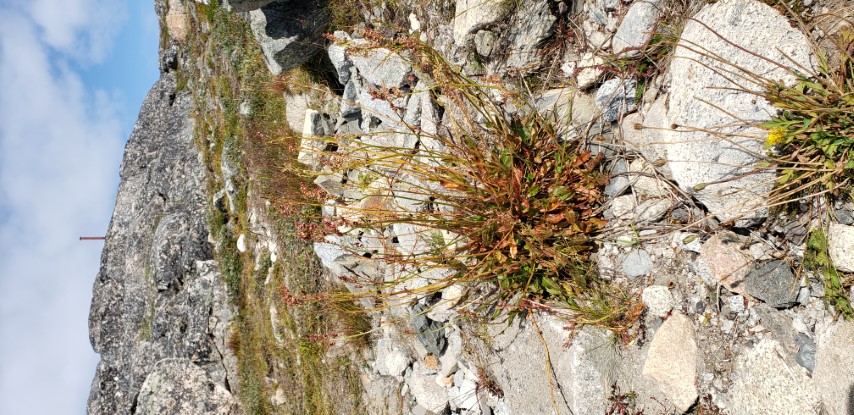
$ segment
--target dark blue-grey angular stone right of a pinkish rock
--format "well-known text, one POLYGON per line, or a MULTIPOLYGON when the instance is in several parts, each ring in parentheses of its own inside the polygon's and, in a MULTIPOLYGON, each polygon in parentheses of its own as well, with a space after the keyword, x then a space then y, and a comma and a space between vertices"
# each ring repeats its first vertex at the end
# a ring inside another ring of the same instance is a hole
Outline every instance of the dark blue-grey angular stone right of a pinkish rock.
POLYGON ((786 261, 768 261, 748 271, 744 277, 747 293, 771 307, 790 307, 797 302, 800 285, 786 261))

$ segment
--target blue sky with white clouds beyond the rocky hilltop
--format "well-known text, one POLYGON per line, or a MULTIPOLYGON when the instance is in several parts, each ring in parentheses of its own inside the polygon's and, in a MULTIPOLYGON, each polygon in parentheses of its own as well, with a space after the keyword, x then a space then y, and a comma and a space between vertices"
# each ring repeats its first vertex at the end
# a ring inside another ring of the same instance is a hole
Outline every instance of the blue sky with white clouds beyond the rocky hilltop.
POLYGON ((151 0, 0 0, 0 414, 84 414, 92 283, 158 76, 151 0))

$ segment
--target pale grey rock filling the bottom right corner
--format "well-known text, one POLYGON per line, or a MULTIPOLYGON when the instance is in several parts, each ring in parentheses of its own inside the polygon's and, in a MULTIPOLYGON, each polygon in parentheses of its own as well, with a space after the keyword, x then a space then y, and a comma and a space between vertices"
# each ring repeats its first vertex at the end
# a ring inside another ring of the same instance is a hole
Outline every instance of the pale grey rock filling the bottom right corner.
POLYGON ((827 415, 854 413, 854 323, 839 321, 817 333, 813 380, 827 415))

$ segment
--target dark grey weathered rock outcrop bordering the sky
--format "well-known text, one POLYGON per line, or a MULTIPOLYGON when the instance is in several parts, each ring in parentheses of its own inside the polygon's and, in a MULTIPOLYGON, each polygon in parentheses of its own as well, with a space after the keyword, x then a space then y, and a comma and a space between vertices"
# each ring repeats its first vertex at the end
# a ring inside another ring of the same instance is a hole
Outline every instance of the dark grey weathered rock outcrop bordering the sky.
MULTIPOLYGON (((101 354, 89 414, 141 413, 140 389, 163 359, 183 359, 198 369, 185 370, 188 376, 204 374, 229 398, 229 381, 235 383, 223 340, 230 310, 208 242, 192 99, 175 85, 169 73, 154 85, 125 148, 89 315, 92 347, 101 354)), ((203 392, 173 398, 190 402, 203 392)))

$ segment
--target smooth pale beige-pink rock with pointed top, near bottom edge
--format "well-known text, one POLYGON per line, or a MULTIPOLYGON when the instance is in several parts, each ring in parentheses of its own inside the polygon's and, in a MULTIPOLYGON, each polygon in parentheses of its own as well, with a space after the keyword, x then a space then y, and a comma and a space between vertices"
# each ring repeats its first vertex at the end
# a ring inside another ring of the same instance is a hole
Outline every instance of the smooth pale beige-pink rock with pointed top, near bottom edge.
POLYGON ((697 341, 694 323, 674 313, 655 332, 643 365, 643 375, 685 412, 697 400, 697 341))

